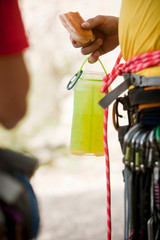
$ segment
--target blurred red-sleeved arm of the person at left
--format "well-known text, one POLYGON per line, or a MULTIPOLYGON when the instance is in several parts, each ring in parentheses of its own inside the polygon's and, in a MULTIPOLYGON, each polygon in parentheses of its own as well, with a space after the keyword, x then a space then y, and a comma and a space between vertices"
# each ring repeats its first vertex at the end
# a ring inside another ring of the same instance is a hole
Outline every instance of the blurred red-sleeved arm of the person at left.
POLYGON ((29 76, 23 52, 28 45, 17 0, 0 0, 0 123, 7 129, 26 113, 29 76))

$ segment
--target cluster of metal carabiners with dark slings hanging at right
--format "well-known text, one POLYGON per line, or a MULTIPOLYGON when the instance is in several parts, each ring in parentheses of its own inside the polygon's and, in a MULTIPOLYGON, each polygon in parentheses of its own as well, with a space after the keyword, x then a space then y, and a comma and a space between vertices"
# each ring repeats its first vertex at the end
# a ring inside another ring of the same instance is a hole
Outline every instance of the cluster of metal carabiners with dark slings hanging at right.
POLYGON ((135 124, 124 137, 124 239, 160 239, 160 125, 135 124))

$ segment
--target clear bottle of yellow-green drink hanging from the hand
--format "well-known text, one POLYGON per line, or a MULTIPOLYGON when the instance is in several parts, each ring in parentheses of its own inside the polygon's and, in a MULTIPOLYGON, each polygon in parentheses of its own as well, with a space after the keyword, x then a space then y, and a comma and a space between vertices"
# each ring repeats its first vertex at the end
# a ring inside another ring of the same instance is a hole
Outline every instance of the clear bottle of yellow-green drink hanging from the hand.
POLYGON ((106 72, 85 72, 81 67, 77 75, 70 151, 76 155, 103 156, 104 110, 98 102, 104 96, 100 89, 106 72))

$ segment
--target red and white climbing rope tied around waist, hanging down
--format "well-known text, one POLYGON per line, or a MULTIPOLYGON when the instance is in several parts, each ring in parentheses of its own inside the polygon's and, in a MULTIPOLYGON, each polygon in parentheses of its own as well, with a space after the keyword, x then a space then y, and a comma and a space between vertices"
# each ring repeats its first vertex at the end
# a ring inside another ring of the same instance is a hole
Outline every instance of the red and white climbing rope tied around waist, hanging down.
MULTIPOLYGON (((110 74, 107 74, 103 79, 103 87, 101 92, 108 93, 108 87, 114 81, 118 75, 122 73, 136 73, 142 69, 151 66, 160 66, 160 50, 141 54, 133 57, 125 63, 120 63, 121 53, 119 54, 114 68, 110 74)), ((105 151, 106 162, 106 185, 107 185, 107 240, 111 240, 111 191, 110 191, 110 163, 109 163, 109 151, 107 141, 107 123, 108 123, 108 108, 104 111, 104 124, 103 124, 103 141, 105 151)))

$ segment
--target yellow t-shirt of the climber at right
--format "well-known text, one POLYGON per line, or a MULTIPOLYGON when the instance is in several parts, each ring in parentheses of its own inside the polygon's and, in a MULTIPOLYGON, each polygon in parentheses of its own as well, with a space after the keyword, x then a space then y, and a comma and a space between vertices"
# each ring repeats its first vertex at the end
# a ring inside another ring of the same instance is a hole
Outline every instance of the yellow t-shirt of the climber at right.
MULTIPOLYGON (((122 0, 119 42, 124 60, 160 50, 160 0, 122 0)), ((138 74, 160 76, 160 66, 138 74)))

